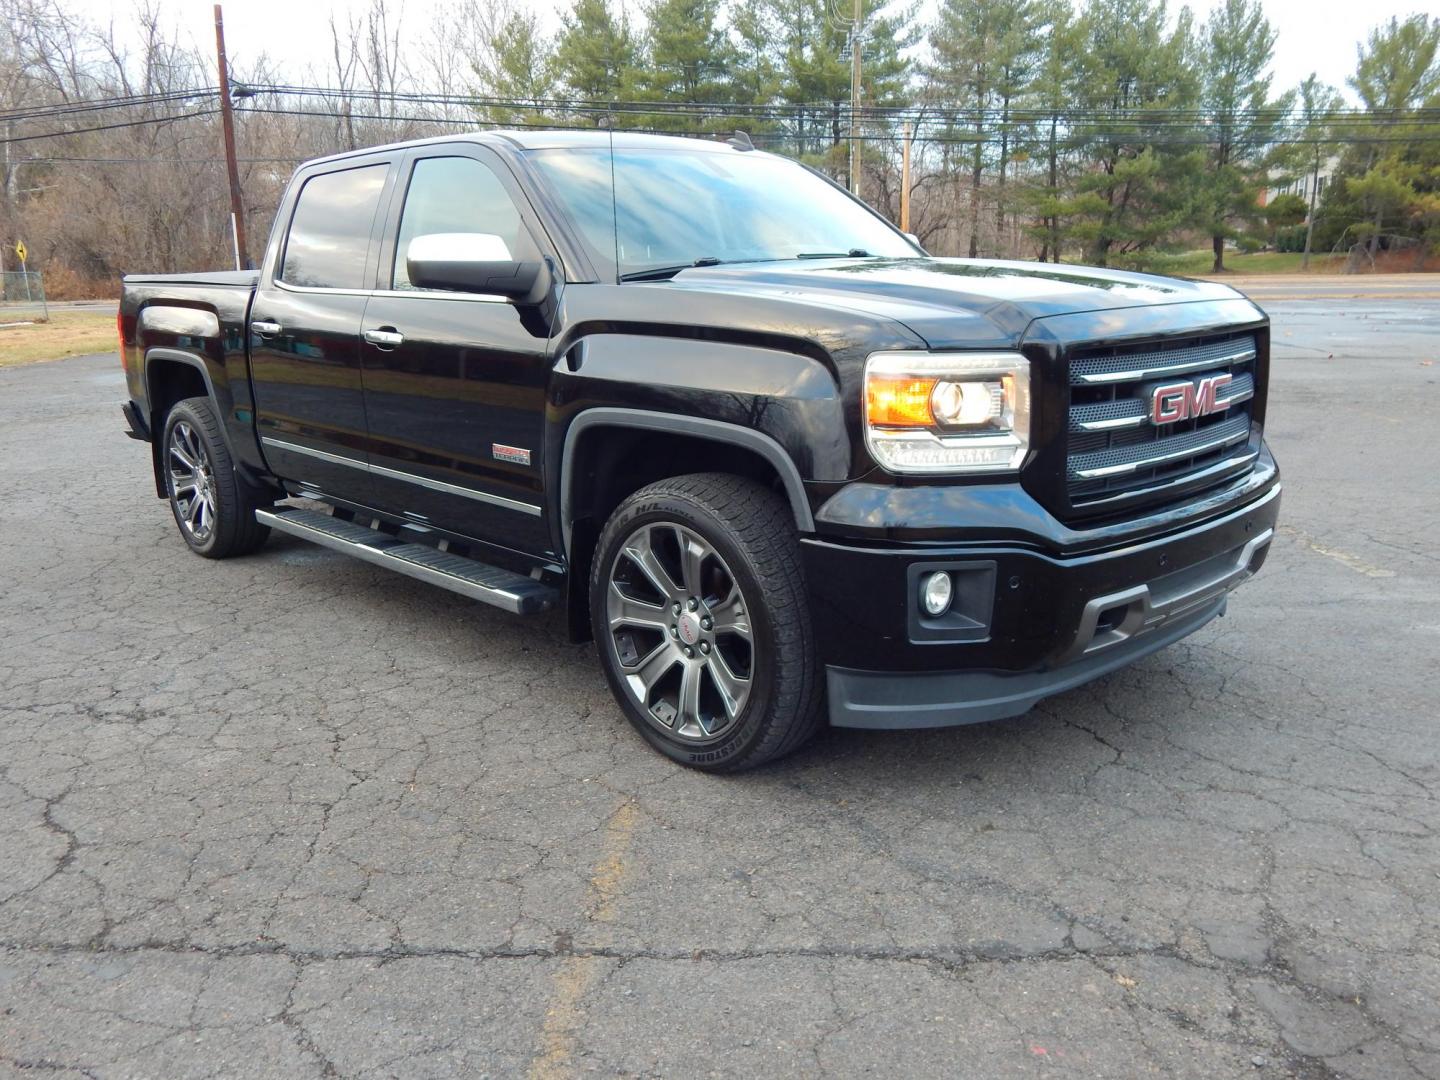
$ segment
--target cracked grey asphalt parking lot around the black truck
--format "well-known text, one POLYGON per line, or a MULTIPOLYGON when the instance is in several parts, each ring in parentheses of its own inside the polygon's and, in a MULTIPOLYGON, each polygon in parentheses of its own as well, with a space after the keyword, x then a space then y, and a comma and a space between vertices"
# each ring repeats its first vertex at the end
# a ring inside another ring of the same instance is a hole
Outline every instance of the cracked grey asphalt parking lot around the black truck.
POLYGON ((717 779, 588 647, 190 556, 0 372, 0 1076, 1440 1077, 1440 301, 1276 301, 1283 527, 1030 716, 717 779))

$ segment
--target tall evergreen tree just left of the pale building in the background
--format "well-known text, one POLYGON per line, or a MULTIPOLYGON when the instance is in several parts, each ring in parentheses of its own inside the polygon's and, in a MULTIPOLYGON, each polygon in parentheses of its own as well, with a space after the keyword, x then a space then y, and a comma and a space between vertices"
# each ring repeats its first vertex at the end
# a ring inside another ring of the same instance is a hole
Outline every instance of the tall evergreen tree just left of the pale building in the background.
POLYGON ((1270 99, 1266 69, 1274 30, 1260 0, 1224 0, 1201 32, 1201 105, 1208 124, 1208 161, 1201 180, 1201 223, 1210 233, 1214 265, 1225 269, 1225 240, 1237 225, 1259 217, 1269 183, 1270 150, 1293 94, 1270 99))

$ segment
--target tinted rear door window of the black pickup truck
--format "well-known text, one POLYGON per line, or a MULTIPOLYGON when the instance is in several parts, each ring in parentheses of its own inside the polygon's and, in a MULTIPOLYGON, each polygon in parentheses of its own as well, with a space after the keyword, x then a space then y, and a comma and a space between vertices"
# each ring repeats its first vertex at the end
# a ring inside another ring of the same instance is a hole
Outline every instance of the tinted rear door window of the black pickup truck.
POLYGON ((312 176, 300 189, 279 279, 288 285, 363 289, 370 229, 390 166, 312 176))

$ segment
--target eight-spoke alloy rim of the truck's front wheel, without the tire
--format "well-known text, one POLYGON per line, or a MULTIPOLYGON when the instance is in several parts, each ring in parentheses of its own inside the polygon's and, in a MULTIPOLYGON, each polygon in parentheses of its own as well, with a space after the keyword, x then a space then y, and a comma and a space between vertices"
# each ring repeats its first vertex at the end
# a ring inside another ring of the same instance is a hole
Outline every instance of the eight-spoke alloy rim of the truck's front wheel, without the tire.
POLYGON ((749 605, 714 546, 672 521, 638 527, 609 567, 609 648, 631 697, 667 734, 713 742, 755 677, 749 605))

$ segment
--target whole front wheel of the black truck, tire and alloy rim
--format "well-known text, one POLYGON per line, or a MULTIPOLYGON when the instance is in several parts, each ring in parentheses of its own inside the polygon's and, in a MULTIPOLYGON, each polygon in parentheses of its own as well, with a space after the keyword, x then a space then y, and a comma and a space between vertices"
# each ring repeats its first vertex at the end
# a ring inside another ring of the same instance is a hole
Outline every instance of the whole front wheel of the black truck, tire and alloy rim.
POLYGON ((740 772, 819 727, 795 520, 752 480, 674 477, 621 503, 596 544, 590 622, 615 700, 671 760, 740 772))

